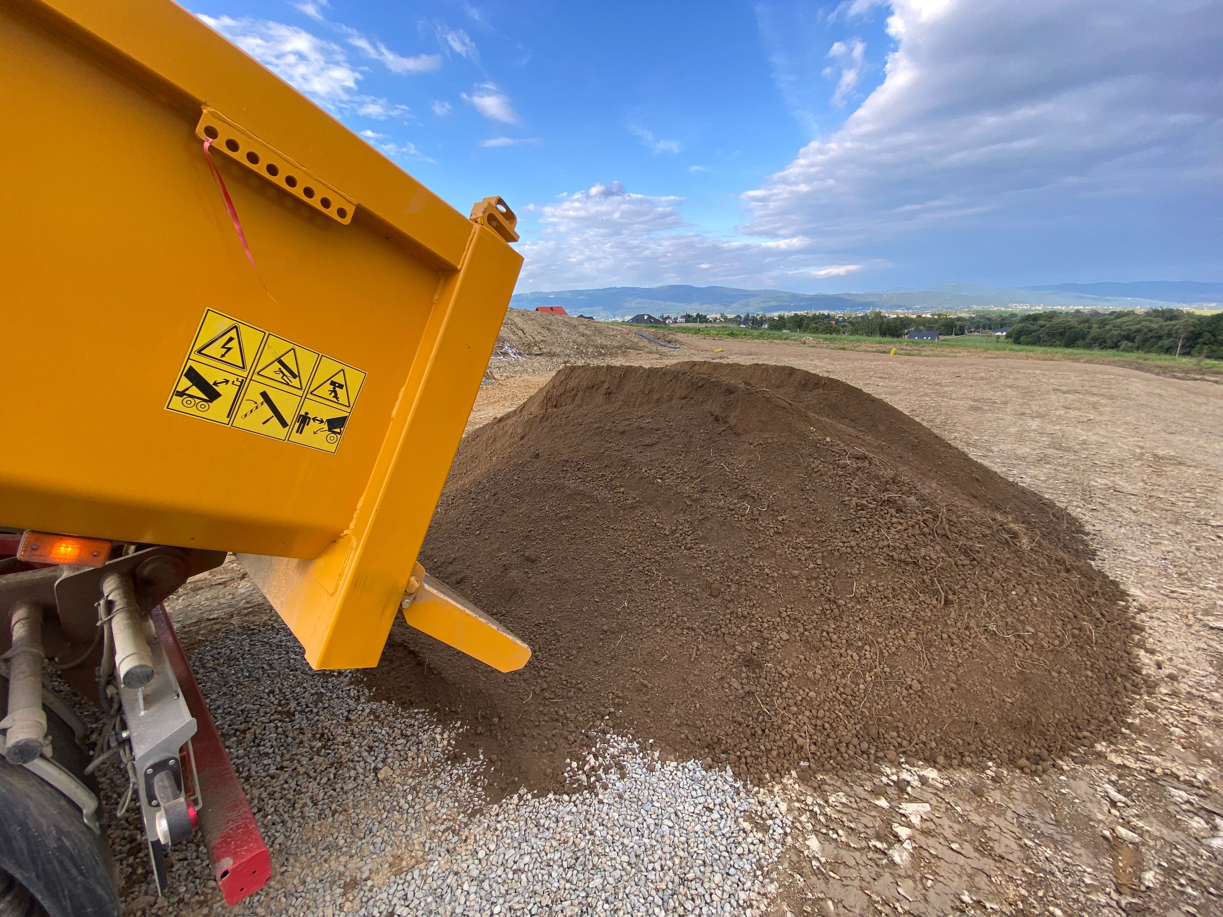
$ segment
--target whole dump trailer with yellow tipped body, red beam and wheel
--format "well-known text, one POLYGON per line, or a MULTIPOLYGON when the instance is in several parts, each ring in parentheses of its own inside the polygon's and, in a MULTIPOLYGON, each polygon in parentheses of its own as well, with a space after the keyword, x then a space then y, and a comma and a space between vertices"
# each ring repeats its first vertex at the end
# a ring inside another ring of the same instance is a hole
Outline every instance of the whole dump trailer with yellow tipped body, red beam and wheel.
POLYGON ((0 913, 117 915, 115 806, 159 890, 199 831, 235 904, 272 861, 163 603, 234 554, 314 668, 377 665, 397 614, 526 664, 417 562, 515 216, 168 0, 0 1, 0 913))

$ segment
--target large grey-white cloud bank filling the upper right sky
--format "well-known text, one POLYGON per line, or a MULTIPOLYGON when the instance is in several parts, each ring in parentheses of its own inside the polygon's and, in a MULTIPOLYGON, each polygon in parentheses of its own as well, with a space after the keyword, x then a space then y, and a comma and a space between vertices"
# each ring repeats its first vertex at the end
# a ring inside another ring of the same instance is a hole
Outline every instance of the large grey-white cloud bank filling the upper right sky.
POLYGON ((747 231, 879 257, 933 229, 1074 240, 1218 197, 1219 0, 890 6, 884 82, 744 196, 747 231))

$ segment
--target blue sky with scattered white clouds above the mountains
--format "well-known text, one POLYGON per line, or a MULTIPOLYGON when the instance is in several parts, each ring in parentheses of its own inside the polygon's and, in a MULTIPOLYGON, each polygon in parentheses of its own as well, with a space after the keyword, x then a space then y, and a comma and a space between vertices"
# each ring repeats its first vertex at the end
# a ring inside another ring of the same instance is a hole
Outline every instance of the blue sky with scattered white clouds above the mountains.
POLYGON ((520 291, 1223 280, 1223 0, 208 0, 520 291))

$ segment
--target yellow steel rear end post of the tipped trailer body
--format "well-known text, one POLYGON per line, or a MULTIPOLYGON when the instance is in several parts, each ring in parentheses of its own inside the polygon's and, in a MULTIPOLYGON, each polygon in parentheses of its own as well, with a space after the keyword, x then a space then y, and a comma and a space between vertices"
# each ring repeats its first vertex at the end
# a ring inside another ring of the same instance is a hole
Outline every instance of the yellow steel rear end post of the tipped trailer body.
POLYGON ((378 664, 522 259, 473 225, 446 279, 351 529, 313 562, 240 555, 318 669, 378 664))

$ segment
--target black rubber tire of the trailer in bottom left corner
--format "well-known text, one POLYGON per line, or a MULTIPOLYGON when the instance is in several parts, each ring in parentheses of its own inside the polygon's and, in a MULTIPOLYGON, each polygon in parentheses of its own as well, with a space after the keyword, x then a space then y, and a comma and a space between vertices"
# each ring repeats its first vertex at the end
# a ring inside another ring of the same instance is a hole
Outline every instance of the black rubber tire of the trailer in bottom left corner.
MULTIPOLYGON (((0 709, 7 699, 9 680, 0 676, 0 709)), ((71 727, 50 710, 46 726, 56 759, 83 780, 86 754, 71 727)), ((93 833, 64 794, 0 756, 0 885, 5 877, 42 906, 29 911, 31 917, 44 912, 48 917, 119 917, 105 836, 93 833)))

